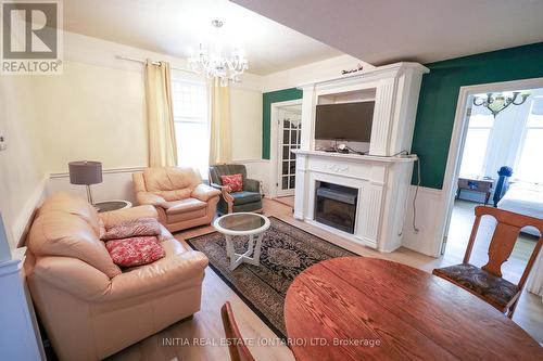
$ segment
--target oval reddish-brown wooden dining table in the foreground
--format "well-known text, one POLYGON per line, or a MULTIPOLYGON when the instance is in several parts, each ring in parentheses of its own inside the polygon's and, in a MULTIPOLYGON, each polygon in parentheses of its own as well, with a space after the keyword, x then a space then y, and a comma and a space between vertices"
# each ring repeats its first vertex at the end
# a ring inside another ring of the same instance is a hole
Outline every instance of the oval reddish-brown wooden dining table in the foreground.
POLYGON ((543 348, 496 309, 413 267, 369 257, 321 261, 287 293, 299 361, 543 360, 543 348))

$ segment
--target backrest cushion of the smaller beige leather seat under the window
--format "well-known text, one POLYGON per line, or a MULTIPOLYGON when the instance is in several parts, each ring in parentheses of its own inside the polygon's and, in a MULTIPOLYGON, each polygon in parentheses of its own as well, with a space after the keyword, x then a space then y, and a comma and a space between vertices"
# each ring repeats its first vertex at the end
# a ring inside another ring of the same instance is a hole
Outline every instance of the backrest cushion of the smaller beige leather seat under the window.
MULTIPOLYGON (((147 191, 152 193, 184 189, 189 189, 192 192, 198 184, 202 183, 200 173, 197 170, 176 167, 146 168, 143 170, 143 180, 147 191)), ((163 196, 163 194, 167 193, 155 194, 163 196)), ((166 198, 166 201, 168 199, 166 198)))

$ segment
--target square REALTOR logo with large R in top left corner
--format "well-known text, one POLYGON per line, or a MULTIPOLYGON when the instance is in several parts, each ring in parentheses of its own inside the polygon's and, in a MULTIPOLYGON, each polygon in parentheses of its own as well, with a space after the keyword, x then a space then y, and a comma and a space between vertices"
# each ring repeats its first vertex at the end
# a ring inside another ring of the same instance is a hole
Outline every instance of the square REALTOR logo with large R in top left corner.
POLYGON ((61 74, 61 2, 2 1, 1 4, 1 74, 61 74))

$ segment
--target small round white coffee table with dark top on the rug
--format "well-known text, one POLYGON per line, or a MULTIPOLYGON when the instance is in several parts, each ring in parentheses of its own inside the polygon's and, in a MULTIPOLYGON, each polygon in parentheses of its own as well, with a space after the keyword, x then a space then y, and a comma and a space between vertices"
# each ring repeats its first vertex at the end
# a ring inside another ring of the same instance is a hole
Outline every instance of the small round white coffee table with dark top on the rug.
POLYGON ((230 259, 230 271, 241 263, 261 265, 261 248, 264 231, 269 228, 269 219, 265 216, 239 212, 219 217, 213 227, 226 237, 226 254, 230 259), (248 235, 249 246, 245 253, 237 254, 233 249, 233 235, 248 235), (251 257, 252 255, 252 257, 251 257))

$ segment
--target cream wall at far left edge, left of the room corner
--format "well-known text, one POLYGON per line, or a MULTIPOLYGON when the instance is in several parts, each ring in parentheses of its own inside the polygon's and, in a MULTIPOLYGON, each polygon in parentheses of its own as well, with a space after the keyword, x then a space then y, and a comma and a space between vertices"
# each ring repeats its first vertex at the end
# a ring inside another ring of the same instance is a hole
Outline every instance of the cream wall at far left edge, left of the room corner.
POLYGON ((35 76, 0 77, 0 211, 11 247, 18 242, 27 217, 45 188, 43 147, 37 125, 35 76))

